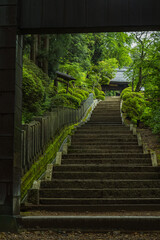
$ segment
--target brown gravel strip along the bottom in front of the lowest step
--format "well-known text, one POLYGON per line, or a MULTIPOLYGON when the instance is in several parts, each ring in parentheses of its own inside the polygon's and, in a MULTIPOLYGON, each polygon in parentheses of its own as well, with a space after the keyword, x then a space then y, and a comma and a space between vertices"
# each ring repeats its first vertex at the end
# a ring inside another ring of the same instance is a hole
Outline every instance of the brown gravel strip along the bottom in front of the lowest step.
POLYGON ((52 232, 35 231, 21 232, 19 234, 0 233, 0 240, 159 240, 160 233, 121 233, 119 231, 108 233, 81 233, 81 232, 52 232))

